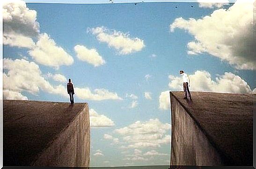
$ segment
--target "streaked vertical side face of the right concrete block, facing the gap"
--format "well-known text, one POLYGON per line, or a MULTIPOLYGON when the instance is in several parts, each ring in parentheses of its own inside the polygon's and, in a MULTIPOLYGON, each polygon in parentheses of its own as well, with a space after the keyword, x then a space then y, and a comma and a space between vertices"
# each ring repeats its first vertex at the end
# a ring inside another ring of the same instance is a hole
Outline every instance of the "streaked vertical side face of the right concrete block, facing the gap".
POLYGON ((205 134, 172 95, 171 165, 221 166, 224 162, 205 134))

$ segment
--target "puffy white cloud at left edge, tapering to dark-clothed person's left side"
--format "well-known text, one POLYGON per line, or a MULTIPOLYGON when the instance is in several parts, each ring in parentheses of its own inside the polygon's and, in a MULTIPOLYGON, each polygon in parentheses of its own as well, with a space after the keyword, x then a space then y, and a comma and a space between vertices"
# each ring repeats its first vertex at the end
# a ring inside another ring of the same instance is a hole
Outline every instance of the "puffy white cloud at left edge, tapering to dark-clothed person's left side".
POLYGON ((4 98, 15 99, 23 98, 21 92, 29 92, 36 95, 40 90, 51 94, 60 94, 66 96, 66 89, 61 86, 52 86, 46 81, 34 62, 24 59, 3 59, 3 69, 7 73, 3 73, 3 89, 4 98), (12 98, 10 98, 12 96, 12 98))

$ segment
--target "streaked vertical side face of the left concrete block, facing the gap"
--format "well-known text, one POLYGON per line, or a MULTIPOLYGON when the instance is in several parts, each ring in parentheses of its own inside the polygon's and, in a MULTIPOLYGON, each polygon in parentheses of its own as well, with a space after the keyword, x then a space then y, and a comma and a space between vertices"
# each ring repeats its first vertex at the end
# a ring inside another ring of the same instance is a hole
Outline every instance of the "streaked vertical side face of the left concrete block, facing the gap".
POLYGON ((88 167, 90 122, 87 106, 75 117, 32 166, 88 167))

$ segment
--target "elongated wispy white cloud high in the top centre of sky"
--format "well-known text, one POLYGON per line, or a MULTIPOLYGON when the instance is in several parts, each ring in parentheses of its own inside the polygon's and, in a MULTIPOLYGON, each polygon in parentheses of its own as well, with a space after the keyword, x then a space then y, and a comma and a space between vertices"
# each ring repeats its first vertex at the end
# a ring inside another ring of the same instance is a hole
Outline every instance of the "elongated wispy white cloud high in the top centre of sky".
POLYGON ((128 33, 110 30, 105 27, 88 28, 88 32, 96 35, 98 41, 108 43, 109 47, 115 48, 120 55, 128 55, 138 52, 145 47, 144 41, 131 38, 128 33))

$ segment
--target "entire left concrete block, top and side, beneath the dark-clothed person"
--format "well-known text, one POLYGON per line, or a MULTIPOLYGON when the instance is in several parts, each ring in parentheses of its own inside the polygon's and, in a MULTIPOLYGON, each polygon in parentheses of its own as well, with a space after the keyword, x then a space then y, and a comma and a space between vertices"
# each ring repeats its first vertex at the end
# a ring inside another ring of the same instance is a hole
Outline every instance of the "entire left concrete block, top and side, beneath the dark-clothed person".
POLYGON ((89 166, 87 103, 3 101, 4 166, 89 166))

